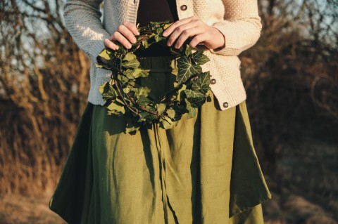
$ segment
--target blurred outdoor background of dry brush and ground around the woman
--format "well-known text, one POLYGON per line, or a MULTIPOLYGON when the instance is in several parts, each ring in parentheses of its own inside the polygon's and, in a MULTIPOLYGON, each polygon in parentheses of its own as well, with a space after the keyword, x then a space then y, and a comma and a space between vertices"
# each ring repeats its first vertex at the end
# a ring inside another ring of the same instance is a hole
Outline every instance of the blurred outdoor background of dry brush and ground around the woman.
MULTIPOLYGON (((63 223, 49 197, 89 90, 63 0, 0 0, 0 223, 63 223)), ((265 223, 338 221, 338 2, 261 0, 240 55, 265 223)))

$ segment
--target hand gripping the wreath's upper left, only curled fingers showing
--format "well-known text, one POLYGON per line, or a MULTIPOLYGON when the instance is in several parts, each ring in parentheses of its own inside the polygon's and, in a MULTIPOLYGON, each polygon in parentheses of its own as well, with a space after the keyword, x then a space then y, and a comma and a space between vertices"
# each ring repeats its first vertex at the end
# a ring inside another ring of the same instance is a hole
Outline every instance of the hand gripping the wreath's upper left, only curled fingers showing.
POLYGON ((112 41, 119 41, 125 48, 129 49, 132 44, 136 43, 135 35, 139 35, 137 27, 131 22, 123 22, 118 26, 118 29, 111 35, 111 38, 104 39, 104 46, 113 50, 118 49, 118 45, 112 41))

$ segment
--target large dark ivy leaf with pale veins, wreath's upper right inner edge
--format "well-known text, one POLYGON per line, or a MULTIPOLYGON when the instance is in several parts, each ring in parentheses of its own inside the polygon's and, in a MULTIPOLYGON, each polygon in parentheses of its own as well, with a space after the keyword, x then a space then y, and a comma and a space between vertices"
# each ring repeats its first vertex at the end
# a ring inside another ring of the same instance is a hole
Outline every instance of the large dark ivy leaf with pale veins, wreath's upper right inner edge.
POLYGON ((186 82, 194 74, 202 72, 202 68, 199 65, 192 65, 192 61, 187 56, 182 56, 177 60, 178 74, 177 84, 180 85, 186 82))

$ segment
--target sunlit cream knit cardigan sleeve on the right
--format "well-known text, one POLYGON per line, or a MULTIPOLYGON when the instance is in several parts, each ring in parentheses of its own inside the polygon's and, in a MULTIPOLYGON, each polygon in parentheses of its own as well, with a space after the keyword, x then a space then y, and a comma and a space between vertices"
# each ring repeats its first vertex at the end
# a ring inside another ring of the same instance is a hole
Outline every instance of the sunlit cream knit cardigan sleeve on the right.
POLYGON ((261 17, 257 0, 223 0, 224 20, 215 22, 225 37, 225 46, 211 49, 211 53, 234 56, 250 48, 261 36, 261 17))

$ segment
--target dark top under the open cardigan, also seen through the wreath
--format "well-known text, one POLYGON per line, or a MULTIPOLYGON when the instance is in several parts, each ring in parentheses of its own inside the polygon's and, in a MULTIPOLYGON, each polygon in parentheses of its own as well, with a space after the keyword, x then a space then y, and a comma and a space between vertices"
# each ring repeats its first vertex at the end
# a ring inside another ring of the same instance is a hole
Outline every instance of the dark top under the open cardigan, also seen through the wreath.
MULTIPOLYGON (((159 22, 169 20, 175 22, 178 20, 175 0, 140 0, 137 11, 137 23, 139 27, 148 25, 150 21, 159 22)), ((145 50, 137 50, 135 55, 139 57, 165 56, 171 55, 168 48, 161 44, 152 44, 145 50)))

